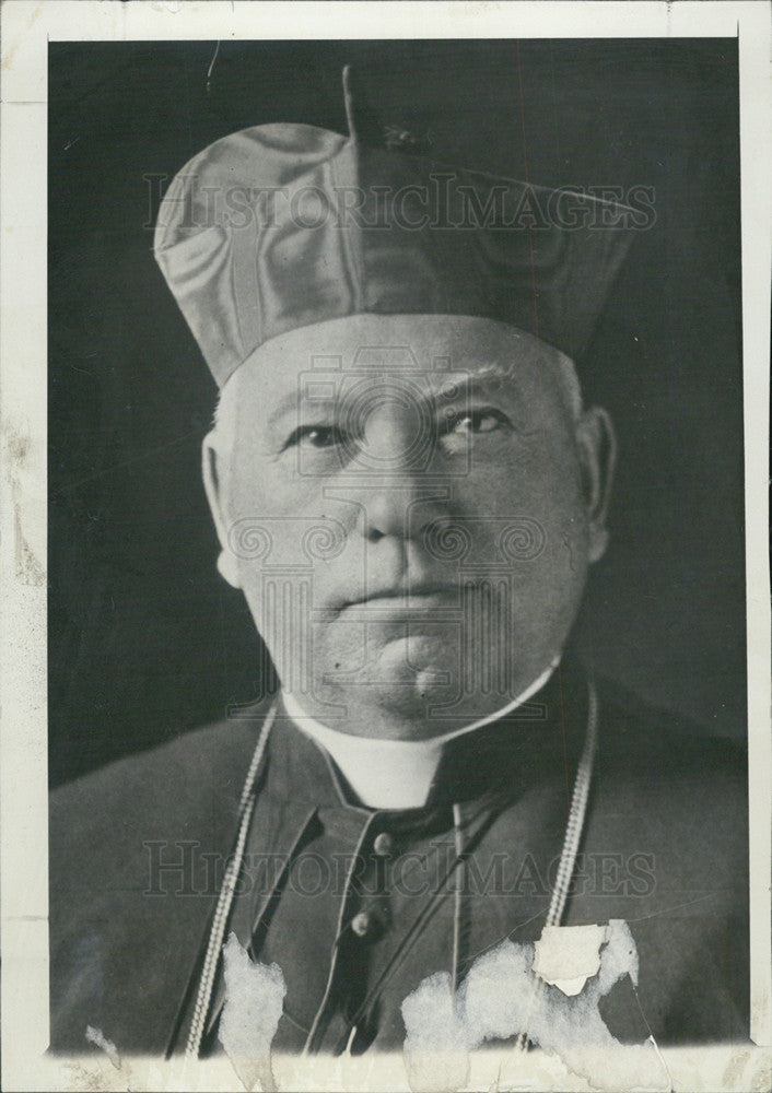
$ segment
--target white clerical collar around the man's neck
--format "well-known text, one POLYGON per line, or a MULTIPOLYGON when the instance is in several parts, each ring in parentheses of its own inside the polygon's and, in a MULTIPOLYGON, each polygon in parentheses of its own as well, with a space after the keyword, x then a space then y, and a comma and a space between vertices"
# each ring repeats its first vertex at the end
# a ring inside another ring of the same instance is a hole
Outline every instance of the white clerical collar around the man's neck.
POLYGON ((371 809, 416 809, 426 803, 443 749, 451 740, 511 714, 540 691, 554 671, 555 657, 514 702, 430 740, 379 740, 330 729, 309 717, 292 694, 282 693, 284 709, 297 728, 331 756, 359 800, 371 809))

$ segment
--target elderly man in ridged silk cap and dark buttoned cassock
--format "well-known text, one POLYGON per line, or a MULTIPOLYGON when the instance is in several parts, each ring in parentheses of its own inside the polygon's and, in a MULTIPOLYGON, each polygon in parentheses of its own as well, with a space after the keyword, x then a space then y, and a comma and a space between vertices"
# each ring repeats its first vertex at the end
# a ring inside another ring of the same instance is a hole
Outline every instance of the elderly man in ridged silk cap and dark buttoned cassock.
POLYGON ((278 1050, 400 1047, 426 977, 613 919, 615 1035, 746 1036, 741 756, 566 651, 615 455, 573 360, 630 210, 351 130, 220 140, 159 214, 281 691, 58 795, 52 1045, 215 1050, 233 935, 278 1050))

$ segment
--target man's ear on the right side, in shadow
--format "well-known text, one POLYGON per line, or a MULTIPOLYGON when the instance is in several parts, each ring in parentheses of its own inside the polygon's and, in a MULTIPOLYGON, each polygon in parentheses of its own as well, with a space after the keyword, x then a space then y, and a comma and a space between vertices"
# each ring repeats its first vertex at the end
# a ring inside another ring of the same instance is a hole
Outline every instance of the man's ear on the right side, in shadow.
POLYGON ((606 517, 617 465, 617 436, 608 413, 600 407, 582 412, 576 424, 576 447, 589 528, 588 560, 603 557, 608 546, 606 517))

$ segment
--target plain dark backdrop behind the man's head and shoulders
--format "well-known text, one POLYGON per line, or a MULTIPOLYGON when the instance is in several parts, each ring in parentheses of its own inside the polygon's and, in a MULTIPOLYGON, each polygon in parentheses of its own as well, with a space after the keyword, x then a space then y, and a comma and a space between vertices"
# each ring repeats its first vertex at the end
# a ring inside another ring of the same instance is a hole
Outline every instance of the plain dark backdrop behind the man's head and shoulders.
POLYGON ((346 62, 371 120, 437 158, 655 188, 656 223, 580 362, 620 461, 576 640, 650 701, 744 734, 735 40, 225 42, 208 84, 214 48, 50 46, 51 781, 260 693, 200 484, 215 387, 155 267, 150 193, 241 128, 344 132, 346 62))

